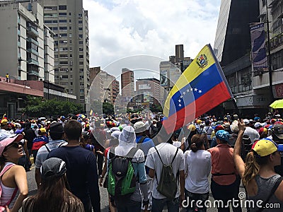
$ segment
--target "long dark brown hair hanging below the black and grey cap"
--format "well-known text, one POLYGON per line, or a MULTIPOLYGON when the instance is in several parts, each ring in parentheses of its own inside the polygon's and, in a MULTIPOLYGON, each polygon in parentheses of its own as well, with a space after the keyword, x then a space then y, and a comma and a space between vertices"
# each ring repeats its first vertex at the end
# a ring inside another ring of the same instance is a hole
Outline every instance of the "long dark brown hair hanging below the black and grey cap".
POLYGON ((27 208, 33 208, 33 212, 62 211, 64 207, 67 207, 67 211, 76 211, 74 201, 72 202, 69 197, 77 198, 68 189, 69 184, 66 175, 42 179, 37 194, 28 199, 26 206, 27 208), (33 206, 30 207, 29 204, 33 204, 33 206))

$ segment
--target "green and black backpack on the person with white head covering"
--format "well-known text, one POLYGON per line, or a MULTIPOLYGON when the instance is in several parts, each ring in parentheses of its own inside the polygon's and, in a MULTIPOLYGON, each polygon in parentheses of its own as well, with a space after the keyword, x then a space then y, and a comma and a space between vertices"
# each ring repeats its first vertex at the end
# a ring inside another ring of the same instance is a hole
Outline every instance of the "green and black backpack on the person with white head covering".
POLYGON ((110 148, 108 170, 108 193, 113 199, 127 199, 136 189, 132 158, 138 148, 132 148, 126 156, 115 155, 115 147, 110 148))

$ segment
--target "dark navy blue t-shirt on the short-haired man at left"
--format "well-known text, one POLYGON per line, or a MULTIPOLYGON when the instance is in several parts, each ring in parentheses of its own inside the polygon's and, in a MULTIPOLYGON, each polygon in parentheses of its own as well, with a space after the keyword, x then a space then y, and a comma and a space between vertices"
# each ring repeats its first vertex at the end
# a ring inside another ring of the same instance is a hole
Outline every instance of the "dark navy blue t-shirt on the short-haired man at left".
POLYGON ((88 211, 86 206, 90 204, 93 206, 93 211, 100 211, 95 155, 81 146, 61 146, 51 151, 47 158, 64 160, 71 192, 81 199, 85 211, 88 211))

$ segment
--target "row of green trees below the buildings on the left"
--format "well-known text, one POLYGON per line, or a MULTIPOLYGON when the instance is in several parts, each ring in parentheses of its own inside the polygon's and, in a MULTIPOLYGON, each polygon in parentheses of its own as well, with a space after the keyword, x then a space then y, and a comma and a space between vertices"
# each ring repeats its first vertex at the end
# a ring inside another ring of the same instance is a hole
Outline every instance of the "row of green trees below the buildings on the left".
POLYGON ((43 100, 28 96, 25 101, 25 109, 22 112, 28 114, 29 117, 53 116, 57 117, 73 113, 78 114, 83 112, 83 105, 73 102, 58 102, 57 100, 43 100))

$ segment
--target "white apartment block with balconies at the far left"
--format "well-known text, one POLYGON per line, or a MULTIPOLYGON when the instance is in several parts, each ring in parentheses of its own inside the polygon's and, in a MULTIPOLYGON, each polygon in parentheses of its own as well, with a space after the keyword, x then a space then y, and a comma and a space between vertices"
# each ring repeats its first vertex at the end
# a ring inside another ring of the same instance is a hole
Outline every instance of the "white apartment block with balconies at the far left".
MULTIPOLYGON (((54 46, 53 33, 43 22, 42 6, 36 1, 0 1, 0 18, 1 76, 9 73, 19 80, 46 79, 45 70, 54 69, 54 46)), ((52 72, 49 81, 54 83, 52 72)))

